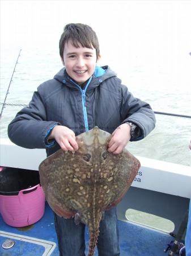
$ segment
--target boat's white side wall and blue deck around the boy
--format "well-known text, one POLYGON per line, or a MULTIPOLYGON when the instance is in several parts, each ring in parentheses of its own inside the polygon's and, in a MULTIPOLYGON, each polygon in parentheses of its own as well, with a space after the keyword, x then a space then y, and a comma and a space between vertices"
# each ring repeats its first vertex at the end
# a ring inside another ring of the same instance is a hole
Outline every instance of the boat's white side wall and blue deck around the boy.
MULTIPOLYGON (((0 151, 0 166, 26 170, 38 170, 39 163, 46 157, 44 150, 28 150, 6 139, 1 139, 0 151)), ((117 205, 120 256, 165 256, 168 253, 164 253, 164 249, 174 240, 169 232, 177 234, 189 207, 191 167, 141 157, 138 159, 142 163, 139 174, 128 193, 117 205), (136 214, 139 216, 138 221, 136 214), (154 225, 148 223, 152 217, 155 218, 155 229, 154 225), (165 224, 162 229, 159 227, 163 231, 156 229, 156 226, 159 226, 156 225, 159 223, 158 217, 163 218, 164 223, 170 224, 170 227, 168 228, 165 224), (144 222, 152 228, 141 225, 144 222)), ((87 229, 85 235, 87 255, 87 229)), ((23 229, 8 226, 0 214, 0 255, 59 255, 53 212, 48 204, 46 204, 43 218, 23 229), (6 238, 15 241, 11 249, 2 248, 6 238)), ((95 256, 97 255, 96 251, 95 256)))

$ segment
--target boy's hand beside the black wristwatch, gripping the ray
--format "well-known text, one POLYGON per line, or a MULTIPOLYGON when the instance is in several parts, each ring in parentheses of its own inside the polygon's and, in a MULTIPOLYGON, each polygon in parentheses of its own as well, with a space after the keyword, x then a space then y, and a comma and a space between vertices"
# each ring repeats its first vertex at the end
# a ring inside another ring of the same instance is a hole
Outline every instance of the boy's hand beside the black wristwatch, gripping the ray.
POLYGON ((123 123, 113 131, 108 151, 113 154, 120 154, 130 138, 130 126, 128 123, 123 123))

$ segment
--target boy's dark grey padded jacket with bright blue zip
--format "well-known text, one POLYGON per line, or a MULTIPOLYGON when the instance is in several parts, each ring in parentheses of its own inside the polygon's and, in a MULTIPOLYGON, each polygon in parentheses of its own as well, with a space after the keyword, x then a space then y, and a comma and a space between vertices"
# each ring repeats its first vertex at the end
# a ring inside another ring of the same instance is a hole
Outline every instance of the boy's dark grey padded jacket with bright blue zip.
POLYGON ((112 133, 129 121, 141 131, 136 140, 145 138, 155 127, 150 105, 133 97, 108 66, 96 67, 83 89, 63 68, 37 88, 29 106, 10 123, 8 135, 21 147, 46 148, 50 155, 60 148, 54 141, 46 141, 55 125, 67 126, 78 135, 95 126, 112 133))

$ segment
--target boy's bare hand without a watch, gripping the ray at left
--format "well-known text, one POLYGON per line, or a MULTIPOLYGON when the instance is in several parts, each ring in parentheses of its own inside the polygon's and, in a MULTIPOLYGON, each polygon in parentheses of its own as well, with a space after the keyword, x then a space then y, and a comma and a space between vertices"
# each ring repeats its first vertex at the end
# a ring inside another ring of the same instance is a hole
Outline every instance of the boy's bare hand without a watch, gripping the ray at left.
POLYGON ((63 151, 76 151, 78 144, 75 141, 75 133, 66 126, 54 126, 48 139, 56 139, 63 151))

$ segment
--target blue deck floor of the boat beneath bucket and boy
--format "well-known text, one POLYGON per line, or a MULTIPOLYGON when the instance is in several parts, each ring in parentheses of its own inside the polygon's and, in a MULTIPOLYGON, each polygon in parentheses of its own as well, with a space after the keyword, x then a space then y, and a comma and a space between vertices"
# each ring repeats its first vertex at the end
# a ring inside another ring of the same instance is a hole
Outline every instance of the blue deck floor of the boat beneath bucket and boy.
MULTIPOLYGON (((118 221, 120 230, 121 256, 165 256, 164 249, 172 240, 168 234, 118 221)), ((86 255, 88 232, 86 229, 86 255)), ((58 256, 56 233, 54 232, 53 212, 46 205, 44 217, 28 230, 12 228, 3 222, 0 215, 0 255, 1 256, 58 256), (11 249, 3 249, 6 238, 15 241, 11 249), (45 252, 45 254, 44 254, 45 252), (52 253, 51 253, 52 252, 52 253)), ((97 256, 97 251, 95 256, 97 256)), ((72 256, 72 255, 71 255, 72 256)))

